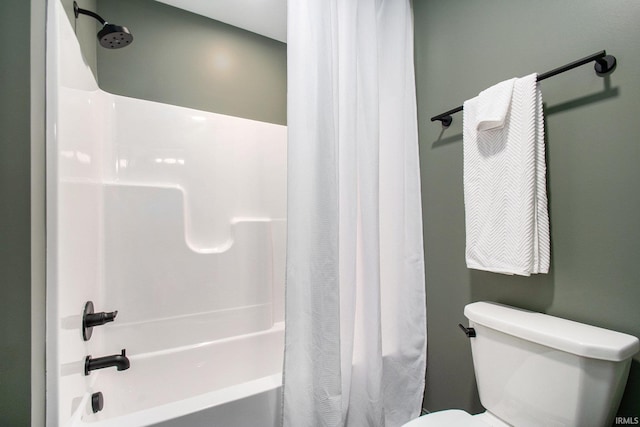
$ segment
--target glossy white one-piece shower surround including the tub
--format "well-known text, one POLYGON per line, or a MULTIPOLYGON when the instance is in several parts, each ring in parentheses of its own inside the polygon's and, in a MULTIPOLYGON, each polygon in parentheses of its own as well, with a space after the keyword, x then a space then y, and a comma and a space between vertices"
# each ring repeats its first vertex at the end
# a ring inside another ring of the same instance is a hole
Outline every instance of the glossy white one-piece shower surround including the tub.
POLYGON ((276 425, 286 128, 105 93, 47 15, 47 425, 276 425))

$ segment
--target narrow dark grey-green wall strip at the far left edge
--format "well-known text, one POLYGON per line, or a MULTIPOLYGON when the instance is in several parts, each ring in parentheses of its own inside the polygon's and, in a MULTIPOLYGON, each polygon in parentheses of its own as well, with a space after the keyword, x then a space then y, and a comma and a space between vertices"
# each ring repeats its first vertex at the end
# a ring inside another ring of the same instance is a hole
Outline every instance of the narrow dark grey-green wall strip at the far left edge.
POLYGON ((0 2, 0 425, 31 413, 30 3, 0 2))

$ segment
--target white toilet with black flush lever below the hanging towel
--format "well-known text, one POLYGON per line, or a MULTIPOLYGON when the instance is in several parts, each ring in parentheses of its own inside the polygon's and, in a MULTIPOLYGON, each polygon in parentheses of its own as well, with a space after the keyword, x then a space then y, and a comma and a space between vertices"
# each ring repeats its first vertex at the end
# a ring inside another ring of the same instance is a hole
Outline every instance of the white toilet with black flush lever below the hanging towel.
POLYGON ((502 304, 464 309, 480 402, 403 427, 602 427, 613 423, 638 338, 502 304), (474 336, 475 335, 475 336, 474 336))

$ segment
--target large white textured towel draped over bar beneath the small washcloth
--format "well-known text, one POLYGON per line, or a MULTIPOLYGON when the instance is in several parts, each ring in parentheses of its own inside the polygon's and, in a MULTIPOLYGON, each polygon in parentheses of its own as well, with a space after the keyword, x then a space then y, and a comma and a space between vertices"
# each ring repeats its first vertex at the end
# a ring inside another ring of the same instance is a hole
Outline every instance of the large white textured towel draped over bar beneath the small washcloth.
POLYGON ((501 128, 479 131, 478 115, 493 107, 479 105, 480 97, 464 103, 469 268, 524 276, 549 271, 544 122, 536 79, 531 74, 515 80, 501 128))

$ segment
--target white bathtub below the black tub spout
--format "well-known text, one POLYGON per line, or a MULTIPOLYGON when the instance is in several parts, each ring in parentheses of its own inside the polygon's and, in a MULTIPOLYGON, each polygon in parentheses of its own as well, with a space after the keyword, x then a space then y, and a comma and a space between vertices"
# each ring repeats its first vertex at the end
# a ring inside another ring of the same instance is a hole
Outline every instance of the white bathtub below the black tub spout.
POLYGON ((253 334, 131 355, 126 371, 91 373, 91 390, 76 402, 69 425, 276 427, 283 349, 280 322, 253 334), (94 414, 96 392, 102 392, 104 407, 94 414))

